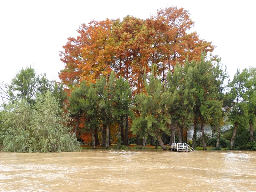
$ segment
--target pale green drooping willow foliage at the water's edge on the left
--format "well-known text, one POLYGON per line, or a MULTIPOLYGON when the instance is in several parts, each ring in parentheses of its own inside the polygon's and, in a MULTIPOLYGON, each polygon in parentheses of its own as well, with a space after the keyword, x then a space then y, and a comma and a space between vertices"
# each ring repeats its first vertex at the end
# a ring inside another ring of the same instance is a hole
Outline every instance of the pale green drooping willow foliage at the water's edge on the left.
POLYGON ((34 109, 21 100, 6 110, 1 132, 4 151, 65 152, 80 150, 74 133, 68 126, 69 114, 60 108, 51 92, 37 95, 34 109))

